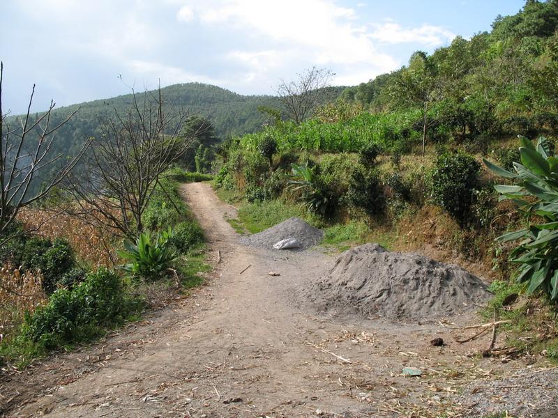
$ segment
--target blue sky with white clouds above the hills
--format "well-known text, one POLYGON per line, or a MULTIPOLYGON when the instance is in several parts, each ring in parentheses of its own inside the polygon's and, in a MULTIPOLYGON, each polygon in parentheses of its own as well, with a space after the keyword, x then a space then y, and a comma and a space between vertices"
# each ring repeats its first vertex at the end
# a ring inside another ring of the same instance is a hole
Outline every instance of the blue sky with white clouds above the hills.
POLYGON ((352 85, 490 30, 524 0, 2 0, 3 110, 185 82, 273 94, 316 65, 352 85), (121 75, 123 82, 118 76, 121 75))

